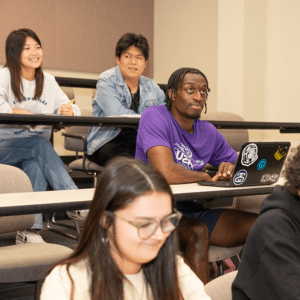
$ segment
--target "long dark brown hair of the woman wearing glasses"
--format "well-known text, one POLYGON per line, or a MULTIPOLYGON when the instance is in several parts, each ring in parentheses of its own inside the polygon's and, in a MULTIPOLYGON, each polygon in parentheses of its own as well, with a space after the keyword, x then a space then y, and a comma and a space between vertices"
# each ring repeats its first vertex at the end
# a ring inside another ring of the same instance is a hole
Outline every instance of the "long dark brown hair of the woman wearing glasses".
MULTIPOLYGON (((105 242, 108 239, 108 228, 113 226, 115 216, 105 212, 122 209, 133 202, 135 198, 154 191, 170 195, 172 208, 175 209, 175 199, 170 186, 166 179, 150 165, 140 160, 119 157, 113 159, 106 166, 98 180, 79 244, 75 252, 61 263, 67 266, 71 278, 70 299, 74 297, 75 287, 69 268, 82 259, 88 259, 90 263, 92 300, 124 299, 123 280, 126 278, 111 256, 109 243, 105 242), (105 226, 103 223, 99 225, 103 221, 104 215, 105 226)), ((114 237, 111 238, 117 246, 114 237)), ((176 232, 172 232, 161 247, 157 257, 142 266, 146 284, 152 292, 153 299, 183 299, 176 266, 177 242, 176 232)))

